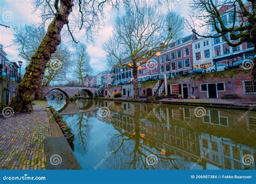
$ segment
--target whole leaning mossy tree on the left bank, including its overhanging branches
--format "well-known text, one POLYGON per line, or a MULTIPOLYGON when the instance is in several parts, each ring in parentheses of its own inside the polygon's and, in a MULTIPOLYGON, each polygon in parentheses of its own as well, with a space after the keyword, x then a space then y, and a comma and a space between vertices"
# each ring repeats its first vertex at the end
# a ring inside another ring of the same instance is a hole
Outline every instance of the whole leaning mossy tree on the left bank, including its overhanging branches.
MULTIPOLYGON (((56 52, 57 46, 61 42, 61 31, 66 25, 66 32, 70 34, 73 41, 75 30, 85 30, 86 38, 92 40, 94 33, 98 32, 102 20, 105 18, 105 6, 119 8, 121 2, 134 4, 137 0, 36 0, 35 7, 41 11, 44 25, 48 25, 48 30, 33 53, 29 65, 26 67, 22 82, 18 86, 17 94, 11 101, 11 107, 15 112, 31 112, 32 100, 36 91, 42 86, 46 62, 51 54, 56 52), (73 11, 74 10, 74 11, 73 11), (71 13, 73 11, 73 13, 71 13)), ((169 4, 166 0, 158 0, 161 3, 169 4)), ((171 3, 171 2, 170 2, 171 3)))

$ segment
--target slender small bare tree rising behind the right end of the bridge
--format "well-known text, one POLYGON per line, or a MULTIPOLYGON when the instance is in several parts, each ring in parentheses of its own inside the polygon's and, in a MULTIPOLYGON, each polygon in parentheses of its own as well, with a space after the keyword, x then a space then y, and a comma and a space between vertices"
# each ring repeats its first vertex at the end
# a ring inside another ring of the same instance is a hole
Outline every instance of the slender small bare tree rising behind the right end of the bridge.
POLYGON ((78 44, 75 60, 77 61, 75 73, 77 75, 79 85, 84 86, 84 79, 91 71, 91 66, 90 66, 91 58, 87 53, 86 45, 78 44))

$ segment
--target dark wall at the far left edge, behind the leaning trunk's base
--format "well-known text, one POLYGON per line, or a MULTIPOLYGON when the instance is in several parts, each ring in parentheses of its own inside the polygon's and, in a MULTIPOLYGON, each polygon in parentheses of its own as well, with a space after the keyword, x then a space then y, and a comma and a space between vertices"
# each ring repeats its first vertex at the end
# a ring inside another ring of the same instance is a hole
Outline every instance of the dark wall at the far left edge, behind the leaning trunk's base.
POLYGON ((0 109, 11 103, 11 98, 15 96, 17 88, 17 82, 0 75, 0 109))

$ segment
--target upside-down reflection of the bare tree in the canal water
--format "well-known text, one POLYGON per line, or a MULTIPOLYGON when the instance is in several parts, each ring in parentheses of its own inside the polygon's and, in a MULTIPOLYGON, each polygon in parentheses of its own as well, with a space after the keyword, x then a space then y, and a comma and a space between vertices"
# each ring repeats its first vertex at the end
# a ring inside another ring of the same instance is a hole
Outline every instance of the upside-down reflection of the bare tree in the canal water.
MULTIPOLYGON (((134 108, 138 108, 135 104, 134 108)), ((135 128, 130 133, 113 135, 110 140, 109 147, 113 150, 113 158, 111 165, 114 168, 123 169, 155 169, 159 165, 167 166, 167 168, 178 169, 174 163, 174 158, 170 155, 163 153, 163 150, 154 144, 151 140, 146 139, 140 131, 140 121, 138 116, 134 116, 135 128), (148 155, 153 154, 158 158, 158 165, 149 165, 146 162, 148 155), (121 165, 118 166, 117 163, 121 165)))

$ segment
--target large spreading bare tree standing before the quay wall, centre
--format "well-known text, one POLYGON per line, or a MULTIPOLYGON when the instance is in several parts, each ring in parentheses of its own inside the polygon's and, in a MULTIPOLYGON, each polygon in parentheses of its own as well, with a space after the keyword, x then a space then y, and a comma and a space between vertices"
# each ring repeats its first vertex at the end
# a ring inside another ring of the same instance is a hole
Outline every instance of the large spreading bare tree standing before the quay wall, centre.
POLYGON ((116 19, 112 37, 103 44, 107 61, 113 67, 133 70, 134 98, 139 97, 138 66, 146 62, 152 65, 151 58, 165 51, 183 29, 184 19, 178 13, 161 11, 146 3, 125 5, 124 15, 116 19), (122 58, 130 61, 123 62, 122 58))

